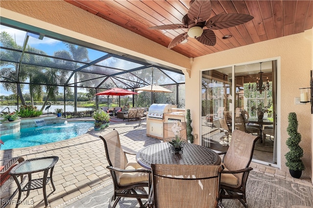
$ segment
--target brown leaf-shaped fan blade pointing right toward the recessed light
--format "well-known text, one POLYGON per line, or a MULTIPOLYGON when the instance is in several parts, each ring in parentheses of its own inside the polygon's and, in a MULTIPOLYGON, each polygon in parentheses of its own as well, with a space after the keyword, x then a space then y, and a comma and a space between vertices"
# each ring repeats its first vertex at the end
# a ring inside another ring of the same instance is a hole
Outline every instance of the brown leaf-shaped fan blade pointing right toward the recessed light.
POLYGON ((211 30, 219 30, 244 24, 253 19, 245 14, 220 14, 207 20, 205 26, 211 30))

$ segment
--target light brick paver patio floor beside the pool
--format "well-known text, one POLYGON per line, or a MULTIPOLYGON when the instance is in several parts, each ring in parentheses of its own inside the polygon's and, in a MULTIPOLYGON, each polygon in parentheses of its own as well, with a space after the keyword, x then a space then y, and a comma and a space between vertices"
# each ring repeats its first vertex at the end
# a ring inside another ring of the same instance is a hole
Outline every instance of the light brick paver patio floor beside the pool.
MULTIPOLYGON (((88 119, 84 118, 84 120, 88 119)), ((100 132, 95 132, 91 128, 86 134, 72 139, 30 148, 3 150, 0 151, 0 165, 6 163, 12 157, 18 156, 23 157, 25 160, 44 156, 58 156, 59 161, 56 163, 53 171, 56 191, 48 196, 48 208, 63 207, 63 205, 65 206, 67 203, 77 200, 77 196, 92 192, 94 189, 104 186, 111 181, 110 172, 106 169, 108 163, 104 144, 99 138, 100 134, 116 129, 120 134, 123 148, 132 151, 138 151, 148 145, 161 142, 159 139, 146 136, 145 123, 142 123, 140 126, 138 126, 138 123, 138 121, 111 122, 109 127, 100 132)), ((129 159, 135 160, 134 157, 129 157, 129 159)), ((257 171, 288 179, 286 172, 279 169, 256 163, 252 163, 251 166, 257 171)), ((42 177, 41 174, 33 174, 32 177, 42 177)), ((294 179, 290 178, 290 180, 294 179)), ((309 179, 298 180, 298 182, 312 186, 309 179)), ((1 195, 1 204, 6 196, 15 189, 16 185, 13 183, 10 189, 1 195)), ((51 191, 52 186, 49 183, 47 194, 51 191)), ((23 192, 21 199, 24 199, 25 196, 26 192, 23 192)), ((17 198, 18 194, 15 195, 7 208, 15 207, 17 198)), ((31 190, 29 196, 19 206, 19 208, 32 207, 45 207, 42 189, 31 190)))

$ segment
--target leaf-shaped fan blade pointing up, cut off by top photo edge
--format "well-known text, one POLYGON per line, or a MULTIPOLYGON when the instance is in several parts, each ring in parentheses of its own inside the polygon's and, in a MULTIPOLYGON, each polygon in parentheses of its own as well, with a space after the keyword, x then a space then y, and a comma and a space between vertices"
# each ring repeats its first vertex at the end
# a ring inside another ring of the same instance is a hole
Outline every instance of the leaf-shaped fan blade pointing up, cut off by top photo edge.
POLYGON ((188 18, 198 22, 206 21, 211 16, 212 6, 209 0, 195 0, 190 2, 190 8, 188 10, 188 18))

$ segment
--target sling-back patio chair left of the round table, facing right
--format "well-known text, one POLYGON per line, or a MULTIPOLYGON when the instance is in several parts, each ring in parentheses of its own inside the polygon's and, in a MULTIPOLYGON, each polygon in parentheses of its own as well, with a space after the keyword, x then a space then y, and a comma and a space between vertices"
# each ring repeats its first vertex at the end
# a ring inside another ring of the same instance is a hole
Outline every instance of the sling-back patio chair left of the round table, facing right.
POLYGON ((116 207, 121 197, 136 198, 140 207, 144 207, 141 199, 147 199, 149 196, 143 190, 147 188, 150 191, 151 170, 144 169, 137 162, 128 162, 116 130, 99 137, 104 142, 109 163, 107 169, 110 170, 114 186, 114 193, 110 199, 110 204, 114 203, 112 208, 116 207))

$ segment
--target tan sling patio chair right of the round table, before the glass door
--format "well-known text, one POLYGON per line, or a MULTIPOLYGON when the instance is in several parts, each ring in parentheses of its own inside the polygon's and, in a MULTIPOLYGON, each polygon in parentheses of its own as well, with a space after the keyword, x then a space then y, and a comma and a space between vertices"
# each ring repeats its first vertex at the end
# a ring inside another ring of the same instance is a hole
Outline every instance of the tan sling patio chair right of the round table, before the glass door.
POLYGON ((221 201, 222 199, 239 199, 245 208, 248 207, 246 203, 246 181, 249 172, 253 170, 249 166, 258 139, 259 136, 236 129, 232 132, 227 152, 219 153, 224 154, 221 164, 224 166, 221 174, 221 201))

